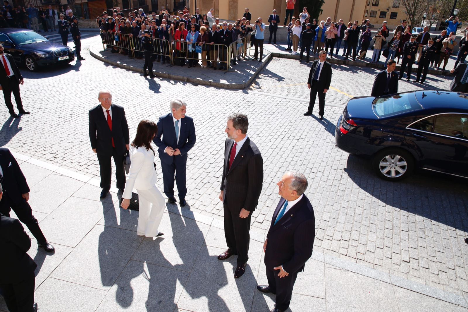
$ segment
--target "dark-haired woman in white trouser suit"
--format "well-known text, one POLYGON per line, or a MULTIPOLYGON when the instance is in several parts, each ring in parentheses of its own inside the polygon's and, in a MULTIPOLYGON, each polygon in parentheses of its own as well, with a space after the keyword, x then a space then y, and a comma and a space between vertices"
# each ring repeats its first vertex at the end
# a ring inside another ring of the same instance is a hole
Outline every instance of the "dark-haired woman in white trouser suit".
POLYGON ((122 208, 127 209, 135 188, 139 197, 139 218, 137 234, 146 237, 158 237, 158 231, 164 213, 165 201, 156 187, 156 169, 154 150, 151 141, 158 133, 158 126, 150 120, 141 120, 137 135, 130 147, 130 171, 122 194, 122 208))

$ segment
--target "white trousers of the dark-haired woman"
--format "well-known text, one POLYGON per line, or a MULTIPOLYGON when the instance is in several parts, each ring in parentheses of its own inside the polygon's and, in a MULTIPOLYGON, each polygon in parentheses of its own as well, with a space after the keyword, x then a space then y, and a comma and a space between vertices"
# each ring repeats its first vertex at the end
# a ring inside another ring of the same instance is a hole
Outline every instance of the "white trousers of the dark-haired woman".
POLYGON ((159 233, 158 227, 161 223, 166 202, 156 186, 147 190, 137 189, 137 191, 139 198, 137 234, 155 237, 159 233))

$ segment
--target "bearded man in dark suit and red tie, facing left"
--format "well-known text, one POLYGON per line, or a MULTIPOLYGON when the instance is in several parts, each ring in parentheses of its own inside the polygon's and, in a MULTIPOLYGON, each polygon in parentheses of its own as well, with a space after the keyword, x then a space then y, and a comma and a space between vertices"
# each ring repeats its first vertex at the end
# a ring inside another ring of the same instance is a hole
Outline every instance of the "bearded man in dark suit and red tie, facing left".
POLYGON ((226 260, 237 255, 234 278, 241 277, 249 260, 250 217, 258 204, 263 183, 263 159, 247 136, 249 119, 235 113, 227 117, 224 132, 224 165, 219 200, 224 208, 224 235, 227 251, 218 256, 226 260))

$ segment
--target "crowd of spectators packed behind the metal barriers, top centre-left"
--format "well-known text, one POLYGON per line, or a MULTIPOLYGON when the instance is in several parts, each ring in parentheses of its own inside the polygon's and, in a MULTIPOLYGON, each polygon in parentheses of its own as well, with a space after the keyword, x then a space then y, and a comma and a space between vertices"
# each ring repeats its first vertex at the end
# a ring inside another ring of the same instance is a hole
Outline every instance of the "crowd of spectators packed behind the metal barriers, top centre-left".
POLYGON ((201 64, 204 68, 227 69, 227 53, 231 53, 231 65, 236 65, 237 59, 245 58, 247 45, 254 43, 255 36, 251 42, 239 39, 247 37, 259 23, 250 23, 248 8, 234 23, 220 22, 213 13, 211 9, 201 15, 197 8, 193 15, 185 10, 178 11, 177 15, 170 15, 167 10, 161 10, 159 14, 146 14, 140 8, 124 14, 120 8, 116 8, 111 15, 104 11, 102 16, 96 17, 96 22, 102 30, 103 42, 112 53, 141 59, 147 47, 153 49, 152 61, 162 64, 168 61, 172 53, 175 63, 180 66, 188 62, 189 67, 201 64), (208 16, 214 22, 210 23, 208 16), (150 48, 145 45, 145 40, 153 41, 154 46, 150 48), (228 50, 233 42, 237 44, 228 50))

